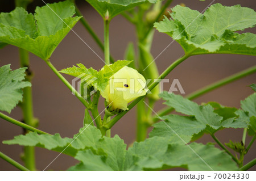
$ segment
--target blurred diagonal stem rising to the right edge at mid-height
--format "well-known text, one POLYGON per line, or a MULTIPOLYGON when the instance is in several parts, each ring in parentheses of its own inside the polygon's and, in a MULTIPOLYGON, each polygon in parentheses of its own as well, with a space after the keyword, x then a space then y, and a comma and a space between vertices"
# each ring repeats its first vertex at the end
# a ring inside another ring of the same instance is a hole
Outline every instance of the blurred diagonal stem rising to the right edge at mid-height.
MULTIPOLYGON (((188 96, 186 96, 186 98, 190 100, 195 99, 201 95, 206 94, 207 92, 217 89, 218 87, 224 86, 230 82, 236 81, 240 78, 246 77, 247 75, 253 74, 255 72, 256 72, 256 66, 253 66, 249 69, 242 70, 236 74, 233 74, 233 75, 230 75, 229 77, 221 79, 220 81, 214 82, 209 86, 203 87, 202 89, 192 92, 192 94, 189 94, 188 96)), ((173 110, 174 108, 172 107, 164 108, 163 110, 158 112, 158 115, 161 117, 161 116, 167 115, 167 113, 170 113, 173 110)), ((155 116, 154 121, 157 121, 157 120, 159 120, 159 117, 155 116)))

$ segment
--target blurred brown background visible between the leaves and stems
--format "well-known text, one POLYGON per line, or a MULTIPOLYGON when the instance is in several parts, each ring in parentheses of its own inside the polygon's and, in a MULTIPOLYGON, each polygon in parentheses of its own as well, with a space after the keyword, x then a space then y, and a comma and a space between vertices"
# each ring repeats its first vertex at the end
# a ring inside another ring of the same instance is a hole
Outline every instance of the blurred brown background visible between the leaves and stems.
MULTIPOLYGON (((53 1, 46 1, 53 2, 53 1)), ((201 2, 199 0, 174 0, 172 6, 179 3, 185 3, 188 7, 194 10, 203 11, 205 7, 212 1, 201 2)), ((251 0, 222 0, 214 3, 222 3, 222 5, 233 6, 240 4, 241 6, 255 9, 256 1, 251 0)), ((28 7, 28 11, 33 12, 35 6, 43 6, 41 0, 36 0, 28 7)), ((79 1, 79 8, 82 14, 88 20, 90 25, 96 31, 98 36, 103 40, 103 21, 100 15, 92 9, 85 1, 79 1)), ((14 9, 13 1, 1 0, 0 11, 9 12, 14 9)), ((97 44, 90 37, 88 32, 79 23, 73 30, 81 36, 81 38, 97 53, 100 57, 104 54, 98 48, 97 44)), ((247 32, 256 33, 255 28, 246 30, 247 32)), ((118 15, 110 23, 110 52, 116 60, 122 60, 127 43, 129 41, 135 42, 134 27, 126 21, 122 16, 118 15)), ((164 48, 172 41, 171 37, 163 33, 155 33, 152 44, 152 54, 154 57, 158 56, 164 48)), ((176 42, 172 43, 157 59, 159 73, 170 65, 172 62, 183 55, 183 49, 176 42)), ((56 77, 56 75, 48 68, 43 60, 31 54, 31 70, 34 71, 34 79, 32 80, 32 90, 34 99, 34 114, 40 120, 39 129, 48 133, 60 133, 62 137, 72 137, 73 134, 79 131, 82 127, 82 119, 84 116, 84 106, 78 99, 65 87, 65 85, 56 77)), ((77 63, 82 63, 87 67, 92 66, 94 69, 100 69, 104 63, 90 50, 73 32, 69 32, 68 36, 60 43, 51 57, 52 64, 58 70, 68 68, 77 63)), ((11 64, 11 69, 19 68, 19 54, 18 48, 9 45, 0 49, 0 66, 11 64)), ((228 75, 237 73, 243 69, 255 65, 255 57, 242 56, 232 54, 209 54, 201 56, 193 56, 188 58, 181 65, 172 71, 167 78, 178 78, 185 95, 200 89, 203 86, 217 81, 218 79, 227 77, 228 75)), ((69 82, 72 77, 64 75, 69 82)), ((230 83, 220 89, 214 90, 198 99, 195 102, 209 102, 217 101, 225 106, 240 108, 240 100, 245 99, 253 91, 247 85, 255 83, 256 74, 242 78, 236 82, 230 83)), ((171 83, 164 83, 164 89, 168 90, 171 83)), ((163 108, 162 102, 159 102, 155 107, 155 111, 163 108)), ((104 103, 101 100, 99 111, 104 109, 104 103)), ((127 113, 112 129, 112 135, 118 134, 123 138, 126 144, 130 144, 135 140, 135 108, 127 113)), ((11 117, 16 120, 22 119, 22 112, 19 107, 16 107, 11 112, 11 117)), ((22 129, 0 119, 0 150, 9 155, 18 162, 20 160, 20 153, 22 147, 13 145, 3 145, 3 140, 9 140, 14 136, 22 134, 22 129)), ((225 129, 216 135, 222 142, 229 142, 229 140, 241 141, 242 129, 225 129)), ((209 135, 203 136, 198 142, 212 141, 209 135)), ((250 138, 247 137, 248 143, 250 138)), ((256 144, 254 144, 249 153, 245 156, 245 163, 255 158, 256 144)), ((43 170, 59 153, 48 151, 41 148, 36 148, 36 165, 38 170, 43 170)), ((210 153, 209 153, 210 154, 210 153)), ((195 155, 196 157, 196 155, 195 155)), ((65 170, 68 167, 75 165, 77 161, 72 157, 61 154, 60 157, 52 163, 48 169, 51 170, 65 170)), ((0 159, 0 170, 16 170, 14 166, 0 159)), ((256 170, 254 166, 251 170, 256 170)))

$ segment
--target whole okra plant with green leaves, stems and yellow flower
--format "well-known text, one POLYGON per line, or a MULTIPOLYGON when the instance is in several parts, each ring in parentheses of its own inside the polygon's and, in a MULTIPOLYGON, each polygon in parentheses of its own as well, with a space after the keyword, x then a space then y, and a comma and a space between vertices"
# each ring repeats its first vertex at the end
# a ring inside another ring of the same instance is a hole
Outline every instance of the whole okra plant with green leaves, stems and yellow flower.
MULTIPOLYGON (((71 165, 68 170, 166 170, 174 167, 187 170, 248 170, 255 165, 256 159, 245 165, 243 158, 256 137, 256 93, 241 100, 241 109, 222 106, 217 102, 197 104, 192 99, 255 73, 256 66, 221 79, 187 97, 167 91, 159 94, 159 80, 191 56, 255 56, 256 35, 242 32, 255 26, 256 12, 253 9, 212 3, 201 13, 184 5, 171 5, 172 0, 86 1, 102 16, 104 43, 89 26, 86 17, 81 15, 75 1, 46 4, 36 7, 34 14, 31 14, 26 8, 32 1, 16 0, 15 10, 0 14, 0 47, 4 48, 7 44, 19 47, 21 65, 16 70, 11 70, 10 64, 0 66, 0 117, 1 121, 6 120, 26 129, 24 134, 15 136, 13 140, 2 140, 3 144, 24 146, 24 166, 2 152, 1 158, 20 170, 36 170, 35 146, 38 146, 77 159, 79 163, 71 165), (115 60, 110 55, 109 26, 117 15, 125 17, 136 30, 137 44, 127 46, 126 60, 115 60), (51 55, 79 21, 104 51, 105 65, 95 70, 77 62, 71 68, 57 70, 51 64, 51 55), (162 73, 158 72, 151 54, 155 31, 166 33, 170 41, 177 41, 184 50, 184 56, 162 73), (73 138, 36 128, 39 120, 35 119, 32 111, 29 52, 42 58, 84 105, 85 115, 81 120, 84 127, 73 138), (80 79, 80 90, 72 87, 63 74, 80 79), (98 110, 100 96, 105 99, 105 110, 98 110), (155 112, 154 105, 160 99, 164 100, 166 108, 155 112), (7 114, 17 104, 22 108, 24 123, 7 114), (138 112, 137 141, 127 146, 110 130, 135 106, 138 112), (153 129, 147 134, 150 128, 153 129), (229 128, 243 129, 241 142, 230 140, 222 144, 218 140, 215 133, 229 128), (195 142, 205 134, 209 134, 221 149, 210 142, 195 142), (246 137, 251 140, 249 145, 245 145, 246 137)), ((253 82, 250 87, 255 91, 253 82)), ((44 170, 48 169, 47 166, 44 170)))

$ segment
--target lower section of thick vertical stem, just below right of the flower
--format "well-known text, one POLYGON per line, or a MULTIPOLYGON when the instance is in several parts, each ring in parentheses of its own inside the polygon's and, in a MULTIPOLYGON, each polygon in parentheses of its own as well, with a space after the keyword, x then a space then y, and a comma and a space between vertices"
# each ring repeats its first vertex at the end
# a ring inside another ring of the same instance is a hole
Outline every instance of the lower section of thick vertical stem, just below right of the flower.
POLYGON ((147 137, 146 110, 143 100, 137 104, 137 142, 144 141, 147 137))

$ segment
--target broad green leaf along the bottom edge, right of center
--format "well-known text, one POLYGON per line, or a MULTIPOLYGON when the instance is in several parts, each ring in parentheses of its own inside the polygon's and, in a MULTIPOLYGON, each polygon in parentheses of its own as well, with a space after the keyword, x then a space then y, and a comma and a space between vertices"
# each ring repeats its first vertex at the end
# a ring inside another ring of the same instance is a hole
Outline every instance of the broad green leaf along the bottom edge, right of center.
POLYGON ((190 148, 187 145, 172 144, 161 137, 135 142, 127 153, 135 157, 130 170, 163 170, 172 167, 188 170, 238 170, 228 154, 211 144, 192 143, 189 146, 190 148))

